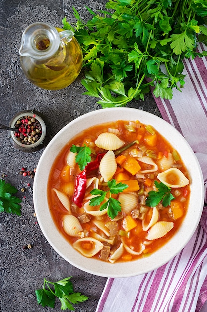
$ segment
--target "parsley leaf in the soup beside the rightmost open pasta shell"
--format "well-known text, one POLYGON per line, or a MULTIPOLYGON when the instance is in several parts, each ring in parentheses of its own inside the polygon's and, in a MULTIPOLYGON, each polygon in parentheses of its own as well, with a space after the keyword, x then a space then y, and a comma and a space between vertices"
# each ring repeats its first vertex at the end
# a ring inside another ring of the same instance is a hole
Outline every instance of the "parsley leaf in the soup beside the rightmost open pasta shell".
POLYGON ((155 207, 162 200, 163 207, 170 205, 171 200, 175 197, 171 194, 171 188, 162 182, 158 183, 154 181, 155 186, 158 188, 158 191, 150 191, 146 199, 146 205, 149 207, 155 207))

